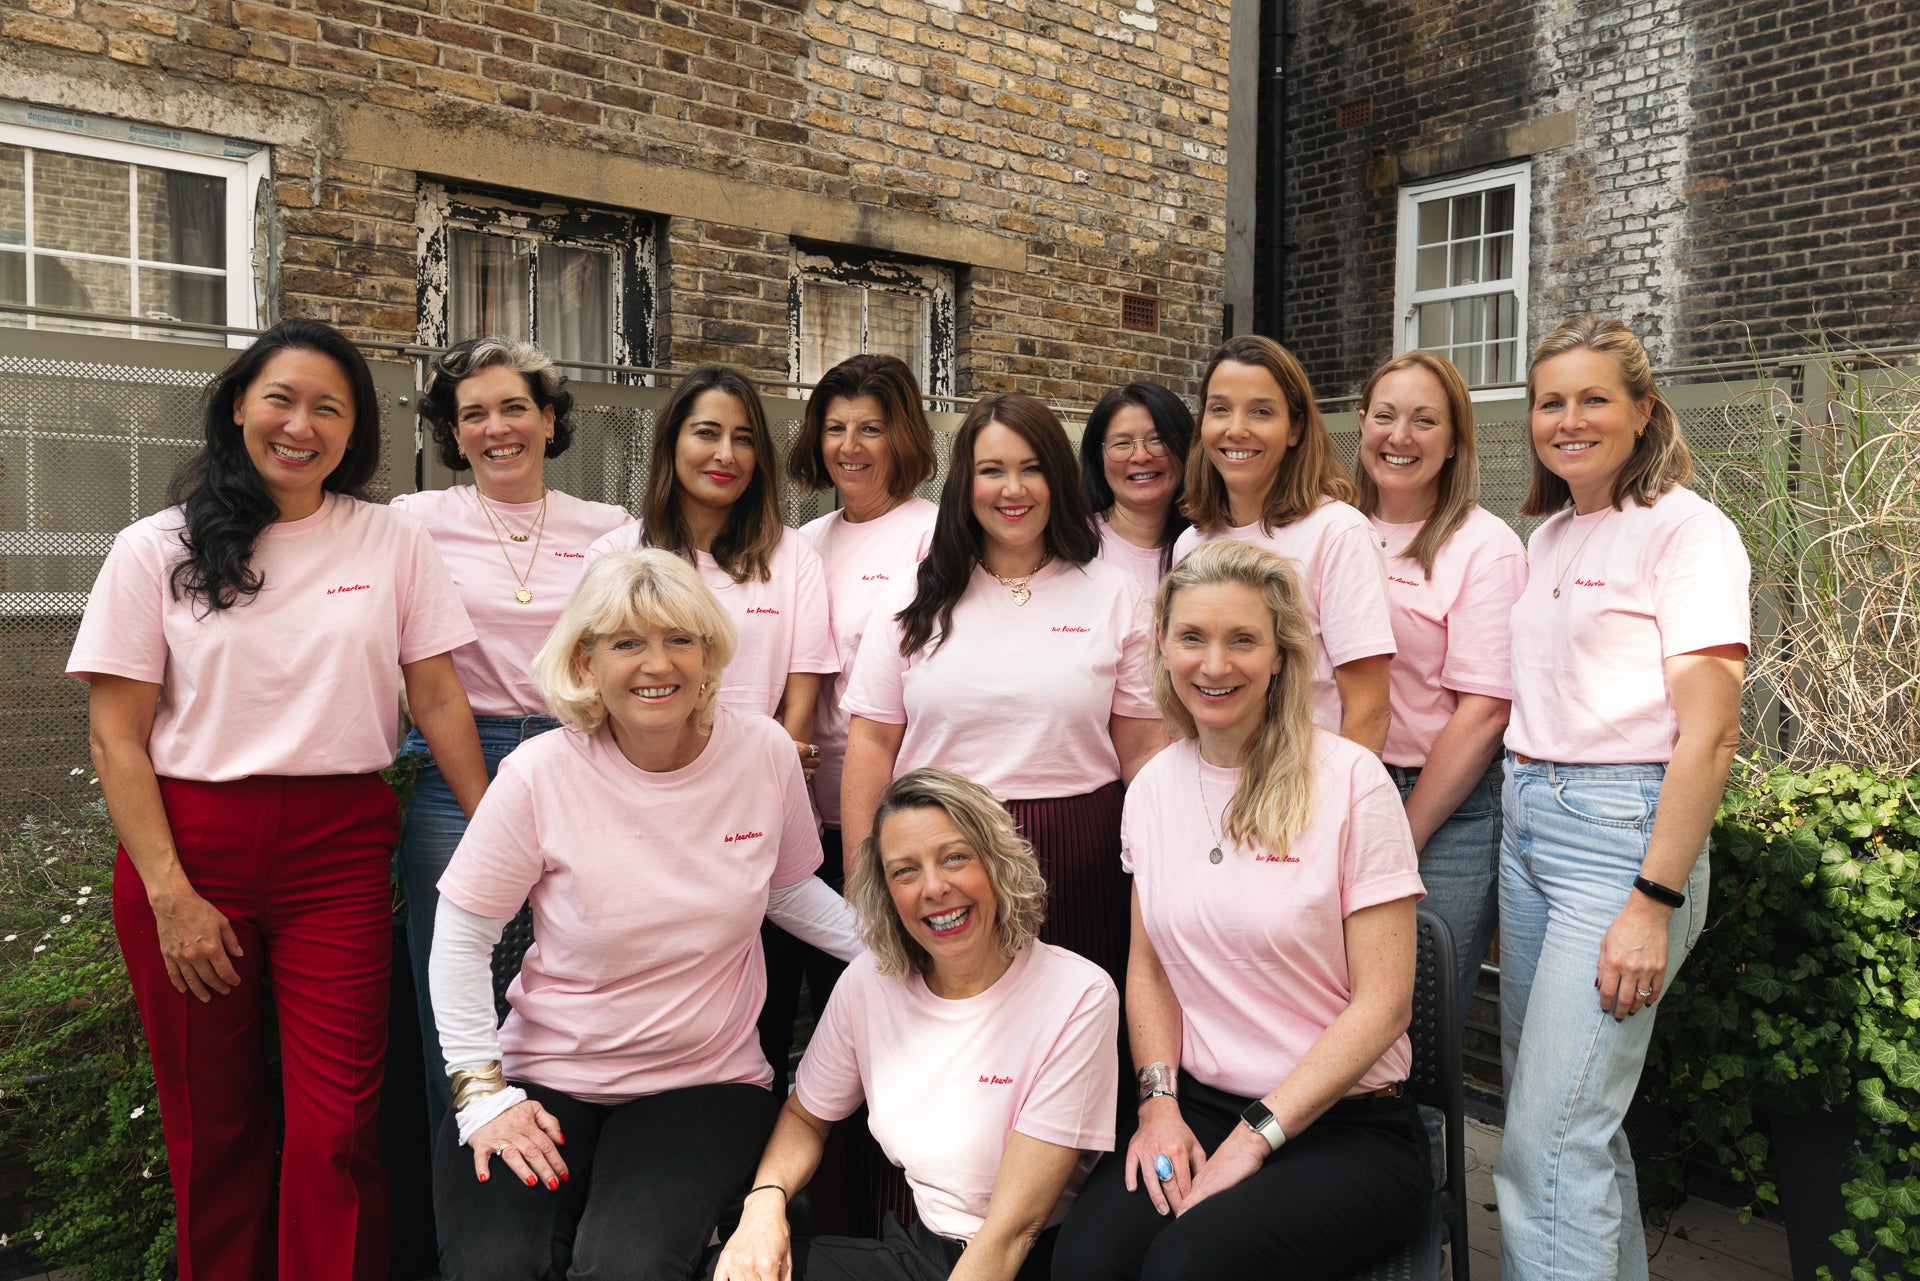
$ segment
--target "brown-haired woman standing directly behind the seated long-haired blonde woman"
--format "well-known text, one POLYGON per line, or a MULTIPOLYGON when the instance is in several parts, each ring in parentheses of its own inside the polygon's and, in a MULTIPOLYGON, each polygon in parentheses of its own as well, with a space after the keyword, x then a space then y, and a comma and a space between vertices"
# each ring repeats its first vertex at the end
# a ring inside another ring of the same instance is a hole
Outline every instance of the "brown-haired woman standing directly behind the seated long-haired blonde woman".
POLYGON ((1394 624, 1380 544, 1354 497, 1300 361, 1260 334, 1229 338, 1200 375, 1183 501, 1192 528, 1173 559, 1215 538, 1286 557, 1313 632, 1313 724, 1379 753, 1394 624))

